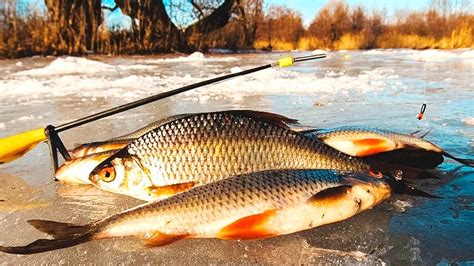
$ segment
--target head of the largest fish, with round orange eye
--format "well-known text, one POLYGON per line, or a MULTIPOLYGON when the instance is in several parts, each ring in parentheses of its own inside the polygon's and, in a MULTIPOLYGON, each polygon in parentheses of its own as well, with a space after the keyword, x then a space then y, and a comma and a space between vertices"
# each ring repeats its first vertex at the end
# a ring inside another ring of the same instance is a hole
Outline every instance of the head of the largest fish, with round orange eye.
POLYGON ((148 191, 153 185, 140 160, 126 150, 97 165, 90 173, 89 181, 99 189, 142 200, 150 200, 148 191))

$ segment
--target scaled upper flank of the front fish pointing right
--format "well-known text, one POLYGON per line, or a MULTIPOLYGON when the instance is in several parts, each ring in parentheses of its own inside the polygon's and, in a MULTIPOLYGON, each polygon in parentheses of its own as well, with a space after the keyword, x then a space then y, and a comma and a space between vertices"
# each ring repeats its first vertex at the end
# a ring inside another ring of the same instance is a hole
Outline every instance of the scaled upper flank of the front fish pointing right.
MULTIPOLYGON (((294 206, 323 189, 341 185, 342 179, 343 175, 331 170, 262 171, 197 187, 132 210, 124 217, 171 219, 175 222, 166 227, 163 225, 161 230, 172 231, 173 226, 182 230, 212 223, 217 218, 248 216, 268 209, 294 206)), ((113 228, 122 222, 120 218, 108 226, 113 228)))

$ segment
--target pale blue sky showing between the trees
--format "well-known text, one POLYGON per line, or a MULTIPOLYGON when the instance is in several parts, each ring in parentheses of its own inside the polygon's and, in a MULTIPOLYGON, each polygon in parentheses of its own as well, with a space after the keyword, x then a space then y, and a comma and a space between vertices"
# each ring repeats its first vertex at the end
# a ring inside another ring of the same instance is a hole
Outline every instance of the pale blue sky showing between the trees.
MULTIPOLYGON (((167 0, 169 1, 169 0, 167 0)), ((184 0, 186 1, 186 0, 184 0)), ((305 26, 309 26, 319 10, 331 0, 264 0, 265 7, 270 5, 284 5, 291 9, 299 11, 303 16, 305 26)), ((114 6, 114 0, 103 0, 104 5, 114 6)), ((388 18, 394 17, 397 10, 426 10, 431 0, 346 0, 349 6, 363 6, 369 14, 372 11, 387 12, 388 18)), ((44 10, 44 0, 17 0, 17 3, 23 6, 34 6, 44 10)), ((112 14, 106 11, 106 22, 108 25, 120 26, 120 24, 129 24, 130 19, 121 15, 120 10, 112 14)))

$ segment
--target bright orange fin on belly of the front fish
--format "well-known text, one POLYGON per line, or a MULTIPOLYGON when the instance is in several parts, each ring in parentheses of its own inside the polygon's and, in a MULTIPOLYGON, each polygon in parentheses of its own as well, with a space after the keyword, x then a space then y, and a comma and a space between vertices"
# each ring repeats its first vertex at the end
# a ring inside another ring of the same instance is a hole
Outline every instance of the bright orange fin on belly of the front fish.
POLYGON ((220 239, 256 239, 275 236, 267 227, 268 220, 275 216, 276 210, 269 210, 263 213, 250 215, 238 219, 237 221, 222 228, 217 233, 217 238, 220 239))

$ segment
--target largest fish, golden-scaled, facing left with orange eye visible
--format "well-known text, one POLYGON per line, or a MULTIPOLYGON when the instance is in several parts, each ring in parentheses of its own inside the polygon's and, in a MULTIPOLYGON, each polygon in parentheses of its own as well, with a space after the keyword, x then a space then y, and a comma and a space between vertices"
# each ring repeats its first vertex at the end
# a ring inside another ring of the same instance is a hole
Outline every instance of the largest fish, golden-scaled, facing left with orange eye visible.
POLYGON ((182 116, 101 162, 89 180, 102 190, 152 201, 229 176, 269 169, 337 169, 371 172, 375 177, 384 173, 396 179, 430 175, 398 165, 371 165, 292 131, 287 126, 291 122, 249 110, 182 116))

